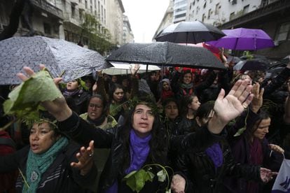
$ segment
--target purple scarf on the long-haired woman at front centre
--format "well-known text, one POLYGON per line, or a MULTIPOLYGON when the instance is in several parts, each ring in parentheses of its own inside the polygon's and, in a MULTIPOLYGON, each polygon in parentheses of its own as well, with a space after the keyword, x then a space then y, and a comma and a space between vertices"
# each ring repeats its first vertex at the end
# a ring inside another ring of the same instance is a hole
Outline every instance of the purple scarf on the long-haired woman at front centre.
MULTIPOLYGON (((125 170, 125 173, 128 174, 131 171, 141 169, 141 167, 146 162, 146 159, 149 155, 150 146, 149 141, 151 140, 151 134, 145 138, 140 138, 135 134, 134 129, 130 131, 130 155, 131 162, 128 169, 125 170)), ((106 193, 117 193, 118 192, 118 181, 115 180, 113 185, 109 187, 106 193)))

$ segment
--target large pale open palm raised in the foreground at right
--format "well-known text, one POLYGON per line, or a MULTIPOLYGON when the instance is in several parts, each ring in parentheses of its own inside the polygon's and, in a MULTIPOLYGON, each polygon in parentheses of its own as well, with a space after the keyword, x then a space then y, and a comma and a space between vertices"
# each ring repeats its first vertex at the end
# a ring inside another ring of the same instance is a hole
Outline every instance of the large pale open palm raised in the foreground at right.
POLYGON ((214 103, 214 116, 209 120, 209 131, 219 134, 230 120, 235 119, 249 106, 253 99, 253 94, 250 94, 252 87, 247 80, 238 80, 226 97, 225 91, 221 90, 214 103))

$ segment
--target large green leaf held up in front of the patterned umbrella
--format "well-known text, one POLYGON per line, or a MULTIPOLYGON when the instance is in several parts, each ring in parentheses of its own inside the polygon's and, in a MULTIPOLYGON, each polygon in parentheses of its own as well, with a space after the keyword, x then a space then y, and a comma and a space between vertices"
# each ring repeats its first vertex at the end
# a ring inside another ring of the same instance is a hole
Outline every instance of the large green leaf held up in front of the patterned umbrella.
POLYGON ((31 124, 39 119, 42 101, 53 101, 61 96, 48 71, 39 71, 9 93, 9 99, 4 102, 4 112, 31 124))

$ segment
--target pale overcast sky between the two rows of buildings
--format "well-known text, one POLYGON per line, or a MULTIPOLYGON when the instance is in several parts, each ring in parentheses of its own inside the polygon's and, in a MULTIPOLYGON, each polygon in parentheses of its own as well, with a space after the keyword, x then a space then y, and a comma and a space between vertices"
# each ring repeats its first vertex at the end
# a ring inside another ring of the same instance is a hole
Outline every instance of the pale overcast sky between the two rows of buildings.
POLYGON ((136 43, 151 43, 170 0, 122 0, 136 43))

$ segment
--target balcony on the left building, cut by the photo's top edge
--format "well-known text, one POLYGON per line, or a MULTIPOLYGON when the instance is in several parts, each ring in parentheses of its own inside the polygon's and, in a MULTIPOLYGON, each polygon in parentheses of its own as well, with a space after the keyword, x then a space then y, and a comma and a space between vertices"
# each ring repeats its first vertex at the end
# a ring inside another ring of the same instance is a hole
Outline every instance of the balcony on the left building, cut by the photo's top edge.
POLYGON ((31 0, 31 2, 37 8, 40 8, 41 10, 46 11, 47 13, 50 13, 52 15, 55 15, 56 17, 59 17, 60 19, 63 19, 62 10, 60 8, 57 8, 56 6, 53 6, 52 4, 48 3, 48 1, 46 1, 46 0, 31 0))

